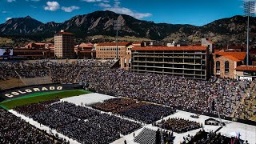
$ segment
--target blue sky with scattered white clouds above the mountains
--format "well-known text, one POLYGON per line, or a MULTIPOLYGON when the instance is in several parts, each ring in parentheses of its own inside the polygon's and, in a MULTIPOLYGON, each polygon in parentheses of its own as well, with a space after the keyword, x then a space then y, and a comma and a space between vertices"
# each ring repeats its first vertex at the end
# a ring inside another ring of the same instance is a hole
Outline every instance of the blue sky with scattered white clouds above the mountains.
POLYGON ((0 23, 26 15, 41 22, 64 22, 77 14, 112 10, 157 23, 203 26, 242 15, 242 4, 242 0, 0 0, 0 23))

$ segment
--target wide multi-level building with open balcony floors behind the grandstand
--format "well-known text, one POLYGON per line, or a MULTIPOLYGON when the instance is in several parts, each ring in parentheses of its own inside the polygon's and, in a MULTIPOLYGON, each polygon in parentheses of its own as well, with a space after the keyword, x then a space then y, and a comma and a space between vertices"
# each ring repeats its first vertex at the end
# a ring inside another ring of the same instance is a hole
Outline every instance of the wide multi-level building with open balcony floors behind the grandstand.
POLYGON ((131 57, 133 72, 202 80, 209 77, 209 48, 206 46, 134 47, 131 57))

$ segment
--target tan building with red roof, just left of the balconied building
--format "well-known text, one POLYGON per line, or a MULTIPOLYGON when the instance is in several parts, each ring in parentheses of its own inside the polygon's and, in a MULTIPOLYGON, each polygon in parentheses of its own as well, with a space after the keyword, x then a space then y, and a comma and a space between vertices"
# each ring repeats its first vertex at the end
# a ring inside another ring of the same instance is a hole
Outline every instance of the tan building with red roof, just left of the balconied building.
MULTIPOLYGON (((118 59, 120 59, 121 68, 126 70, 130 66, 131 42, 118 42, 118 59)), ((114 59, 117 58, 116 43, 98 43, 96 47, 96 58, 114 59)))

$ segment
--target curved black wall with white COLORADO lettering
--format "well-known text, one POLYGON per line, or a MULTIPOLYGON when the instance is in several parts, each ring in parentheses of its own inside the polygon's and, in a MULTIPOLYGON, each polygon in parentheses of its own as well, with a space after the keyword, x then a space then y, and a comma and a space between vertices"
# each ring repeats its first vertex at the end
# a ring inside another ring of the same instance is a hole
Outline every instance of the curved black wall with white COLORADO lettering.
POLYGON ((23 97, 28 94, 78 89, 81 89, 81 86, 79 84, 45 84, 40 86, 35 85, 16 87, 13 89, 0 91, 0 102, 13 98, 23 97))

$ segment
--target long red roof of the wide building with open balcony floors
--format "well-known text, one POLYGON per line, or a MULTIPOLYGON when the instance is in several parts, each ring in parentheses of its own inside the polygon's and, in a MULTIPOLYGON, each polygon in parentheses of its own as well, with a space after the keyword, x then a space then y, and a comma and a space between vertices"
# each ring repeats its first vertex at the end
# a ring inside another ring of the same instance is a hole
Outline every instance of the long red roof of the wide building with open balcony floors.
POLYGON ((131 50, 206 50, 206 46, 152 46, 134 47, 131 50))

